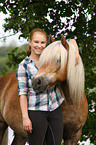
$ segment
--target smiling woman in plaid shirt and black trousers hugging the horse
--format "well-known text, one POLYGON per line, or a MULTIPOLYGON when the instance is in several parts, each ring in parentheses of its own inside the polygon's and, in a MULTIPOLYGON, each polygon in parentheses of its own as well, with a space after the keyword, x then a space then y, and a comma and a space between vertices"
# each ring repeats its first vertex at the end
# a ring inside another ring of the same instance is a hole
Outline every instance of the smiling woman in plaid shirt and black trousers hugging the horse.
MULTIPOLYGON (((75 40, 70 40, 76 48, 76 63, 78 62, 78 46, 75 40)), ((63 136, 63 118, 60 105, 64 101, 57 86, 36 93, 32 89, 31 80, 38 71, 40 54, 47 44, 47 34, 42 29, 34 29, 30 34, 27 57, 18 65, 17 82, 22 111, 23 129, 28 132, 29 145, 43 145, 48 126, 53 141, 50 145, 61 145, 63 136)), ((48 143, 49 145, 49 143, 48 143)))

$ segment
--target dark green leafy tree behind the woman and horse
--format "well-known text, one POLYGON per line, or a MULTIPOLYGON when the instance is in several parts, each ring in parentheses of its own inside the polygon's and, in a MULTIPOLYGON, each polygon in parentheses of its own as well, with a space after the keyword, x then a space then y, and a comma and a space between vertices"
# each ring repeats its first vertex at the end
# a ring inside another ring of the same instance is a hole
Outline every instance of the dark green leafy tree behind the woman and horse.
MULTIPOLYGON (((43 28, 60 39, 75 38, 85 68, 85 91, 89 103, 89 114, 81 140, 90 138, 96 144, 96 98, 90 89, 96 87, 96 0, 1 0, 0 11, 10 13, 4 24, 5 31, 13 29, 27 38, 32 29, 43 28), (50 19, 48 19, 48 17, 50 19), (93 105, 94 103, 94 105, 93 105), (92 110, 92 111, 91 111, 92 110), (85 136, 84 136, 85 135, 85 136)), ((13 56, 13 54, 11 53, 13 56)), ((13 59, 16 60, 16 57, 13 59)))

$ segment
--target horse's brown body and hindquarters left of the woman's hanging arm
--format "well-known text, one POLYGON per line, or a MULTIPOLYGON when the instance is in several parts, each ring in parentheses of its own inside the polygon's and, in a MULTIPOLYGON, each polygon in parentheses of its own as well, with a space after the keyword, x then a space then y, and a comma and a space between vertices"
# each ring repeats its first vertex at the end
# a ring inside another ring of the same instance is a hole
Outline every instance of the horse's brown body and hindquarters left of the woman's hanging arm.
POLYGON ((0 77, 0 145, 8 126, 15 132, 12 145, 24 145, 28 136, 22 126, 16 72, 0 77))

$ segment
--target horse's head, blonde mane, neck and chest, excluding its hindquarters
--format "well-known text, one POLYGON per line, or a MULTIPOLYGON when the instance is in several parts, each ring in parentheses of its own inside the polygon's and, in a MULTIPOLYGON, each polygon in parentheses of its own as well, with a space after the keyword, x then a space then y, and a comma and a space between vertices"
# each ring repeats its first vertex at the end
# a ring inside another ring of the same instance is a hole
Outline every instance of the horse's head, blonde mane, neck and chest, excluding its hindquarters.
MULTIPOLYGON (((32 80, 36 92, 44 92, 57 84, 65 100, 61 105, 64 121, 64 145, 76 145, 80 140, 88 103, 84 92, 84 67, 79 56, 75 64, 75 48, 62 35, 61 41, 52 42, 42 52, 39 70, 32 80)), ((58 124, 59 125, 59 124, 58 124)))

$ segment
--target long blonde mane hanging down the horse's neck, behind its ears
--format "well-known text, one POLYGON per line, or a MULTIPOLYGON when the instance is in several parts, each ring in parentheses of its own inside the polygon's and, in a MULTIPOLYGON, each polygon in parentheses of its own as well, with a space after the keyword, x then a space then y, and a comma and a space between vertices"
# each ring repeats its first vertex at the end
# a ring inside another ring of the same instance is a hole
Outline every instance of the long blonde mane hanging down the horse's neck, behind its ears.
POLYGON ((67 81, 69 84, 71 98, 75 97, 75 100, 80 103, 84 96, 84 67, 80 56, 78 64, 75 65, 75 47, 71 43, 69 43, 67 81))

